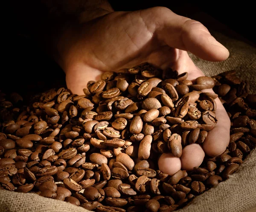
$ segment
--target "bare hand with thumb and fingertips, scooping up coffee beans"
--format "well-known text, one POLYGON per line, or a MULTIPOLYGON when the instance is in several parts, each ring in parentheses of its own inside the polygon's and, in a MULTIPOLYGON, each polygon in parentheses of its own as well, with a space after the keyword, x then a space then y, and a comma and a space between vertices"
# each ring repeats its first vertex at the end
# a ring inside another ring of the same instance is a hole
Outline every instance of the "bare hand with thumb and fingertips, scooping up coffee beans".
MULTIPOLYGON (((179 16, 168 8, 154 7, 110 12, 66 28, 57 43, 57 61, 66 73, 67 87, 82 95, 87 82, 100 79, 102 71, 131 68, 142 62, 188 72, 190 80, 204 76, 187 51, 212 62, 229 56, 228 50, 198 21, 179 16)), ((192 170, 202 163, 205 153, 216 156, 224 152, 229 143, 230 119, 219 99, 216 103, 218 124, 203 145, 186 146, 180 158, 163 154, 159 159, 162 172, 173 175, 180 168, 192 170)))

